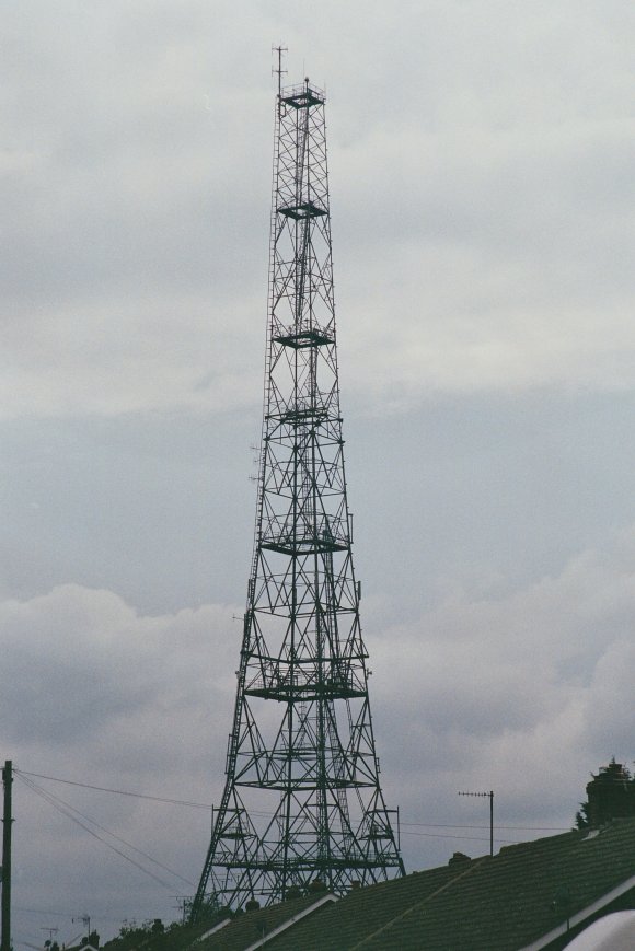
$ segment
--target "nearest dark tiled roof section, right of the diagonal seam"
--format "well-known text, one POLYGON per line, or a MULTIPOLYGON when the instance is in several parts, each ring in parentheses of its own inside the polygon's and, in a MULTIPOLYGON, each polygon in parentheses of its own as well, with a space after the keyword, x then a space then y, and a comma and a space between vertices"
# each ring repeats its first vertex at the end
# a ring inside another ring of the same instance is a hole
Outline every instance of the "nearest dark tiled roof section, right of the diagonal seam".
POLYGON ((363 951, 519 951, 635 877, 635 821, 505 848, 419 902, 363 951))

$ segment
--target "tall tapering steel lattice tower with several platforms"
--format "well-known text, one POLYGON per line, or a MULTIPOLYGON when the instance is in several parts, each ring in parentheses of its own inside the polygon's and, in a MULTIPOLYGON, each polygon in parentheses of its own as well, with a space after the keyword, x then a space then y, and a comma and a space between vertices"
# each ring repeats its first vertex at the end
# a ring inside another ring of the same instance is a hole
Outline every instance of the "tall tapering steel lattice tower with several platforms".
POLYGON ((276 102, 265 407, 227 782, 194 898, 404 874, 379 782, 335 345, 324 94, 276 102))

